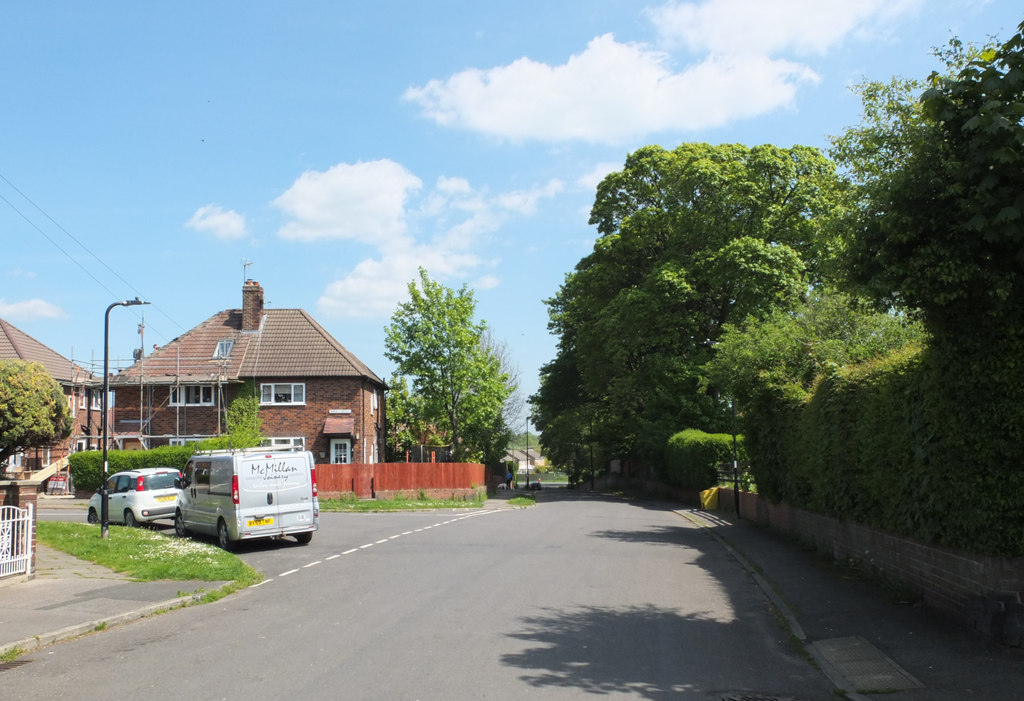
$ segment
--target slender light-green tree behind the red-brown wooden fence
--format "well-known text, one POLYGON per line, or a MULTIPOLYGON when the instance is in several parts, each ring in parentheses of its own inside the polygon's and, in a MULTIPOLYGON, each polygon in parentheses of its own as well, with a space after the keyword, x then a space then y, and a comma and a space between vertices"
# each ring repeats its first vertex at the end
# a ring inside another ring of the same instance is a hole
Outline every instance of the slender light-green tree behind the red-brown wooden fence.
POLYGON ((409 295, 391 316, 385 355, 412 380, 424 420, 447 434, 456 461, 489 457, 496 441, 504 450, 502 412, 514 387, 484 342, 486 323, 473 318, 472 292, 452 291, 420 268, 419 287, 410 282, 409 295))

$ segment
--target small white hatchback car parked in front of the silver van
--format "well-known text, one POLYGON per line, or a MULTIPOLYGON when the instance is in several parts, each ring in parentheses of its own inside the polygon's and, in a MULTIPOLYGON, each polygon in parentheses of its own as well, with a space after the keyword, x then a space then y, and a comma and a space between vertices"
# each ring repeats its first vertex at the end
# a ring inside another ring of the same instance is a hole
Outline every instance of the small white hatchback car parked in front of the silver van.
MULTIPOLYGON (((181 473, 174 468, 141 468, 118 472, 106 478, 108 520, 137 526, 157 519, 173 519, 178 493, 174 486, 181 473)), ((89 499, 89 523, 99 523, 102 494, 89 499)))

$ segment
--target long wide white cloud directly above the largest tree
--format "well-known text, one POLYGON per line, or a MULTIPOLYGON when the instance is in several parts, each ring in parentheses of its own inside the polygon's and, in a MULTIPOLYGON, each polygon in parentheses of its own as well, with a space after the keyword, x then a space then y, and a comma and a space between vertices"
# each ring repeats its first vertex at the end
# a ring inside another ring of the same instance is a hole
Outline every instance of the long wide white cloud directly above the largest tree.
POLYGON ((514 140, 618 143, 762 115, 815 80, 805 65, 759 55, 712 55, 676 73, 667 53, 606 34, 562 65, 520 58, 432 80, 404 97, 443 126, 514 140))

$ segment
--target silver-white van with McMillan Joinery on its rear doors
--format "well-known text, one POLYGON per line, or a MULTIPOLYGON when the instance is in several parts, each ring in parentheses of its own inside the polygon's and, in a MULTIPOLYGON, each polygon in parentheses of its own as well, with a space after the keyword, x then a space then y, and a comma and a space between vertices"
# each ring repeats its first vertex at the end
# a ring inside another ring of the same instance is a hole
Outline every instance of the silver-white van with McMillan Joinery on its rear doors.
POLYGON ((307 543, 319 525, 316 467, 308 450, 211 450, 188 458, 174 532, 238 540, 292 535, 307 543))

